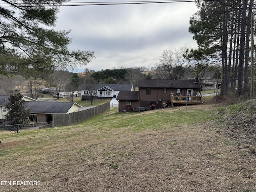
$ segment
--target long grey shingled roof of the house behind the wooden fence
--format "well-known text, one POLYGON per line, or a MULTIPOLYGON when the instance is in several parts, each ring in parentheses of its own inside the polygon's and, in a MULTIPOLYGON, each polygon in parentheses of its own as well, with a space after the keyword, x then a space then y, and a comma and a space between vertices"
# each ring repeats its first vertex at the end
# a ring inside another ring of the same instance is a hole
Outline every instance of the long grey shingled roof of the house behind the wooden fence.
POLYGON ((46 113, 46 114, 66 114, 70 108, 76 105, 82 107, 75 102, 24 102, 24 107, 30 109, 30 113, 46 113))

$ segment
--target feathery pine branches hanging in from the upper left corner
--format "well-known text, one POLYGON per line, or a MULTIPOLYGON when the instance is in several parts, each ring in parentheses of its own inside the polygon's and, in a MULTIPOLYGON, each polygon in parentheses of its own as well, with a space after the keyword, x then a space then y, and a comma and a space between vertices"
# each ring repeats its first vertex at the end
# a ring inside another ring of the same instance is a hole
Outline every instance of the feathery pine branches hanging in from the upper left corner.
POLYGON ((56 65, 87 64, 94 52, 70 51, 70 31, 55 31, 58 6, 66 0, 4 1, 0 6, 0 74, 25 77, 50 72, 56 65), (45 27, 44 27, 45 26, 45 27))

